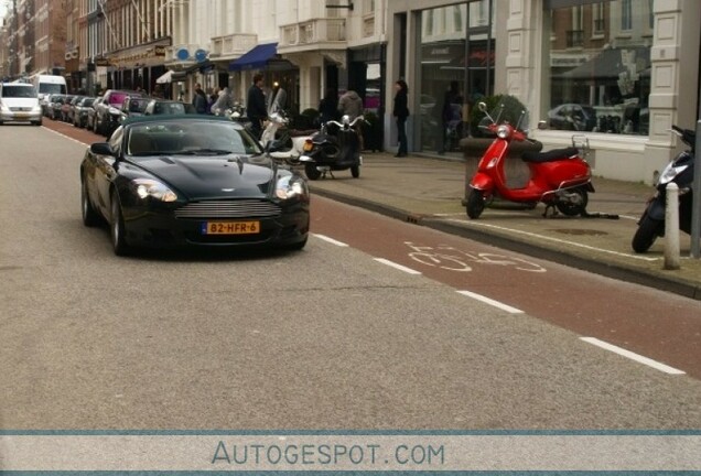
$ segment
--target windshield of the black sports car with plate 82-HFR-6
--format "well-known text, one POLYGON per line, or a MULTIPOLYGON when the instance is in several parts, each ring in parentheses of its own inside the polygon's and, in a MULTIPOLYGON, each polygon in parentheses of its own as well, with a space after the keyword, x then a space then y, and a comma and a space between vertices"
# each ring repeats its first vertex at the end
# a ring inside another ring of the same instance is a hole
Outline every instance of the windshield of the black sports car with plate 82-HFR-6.
POLYGON ((259 154, 259 144, 233 122, 169 121, 132 125, 127 153, 130 155, 259 154))

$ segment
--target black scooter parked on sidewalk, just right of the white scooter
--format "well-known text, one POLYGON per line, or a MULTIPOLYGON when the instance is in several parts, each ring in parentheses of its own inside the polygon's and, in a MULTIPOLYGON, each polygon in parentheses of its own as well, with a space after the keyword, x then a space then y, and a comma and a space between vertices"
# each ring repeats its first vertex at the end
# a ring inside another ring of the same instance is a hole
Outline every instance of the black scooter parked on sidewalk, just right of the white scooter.
POLYGON ((355 127, 363 122, 363 116, 358 116, 353 122, 348 116, 344 116, 341 122, 332 120, 323 123, 317 133, 306 139, 299 162, 304 165, 309 180, 317 180, 326 176, 326 173, 334 177, 333 172, 348 169, 354 178, 360 176, 363 158, 360 139, 355 127))

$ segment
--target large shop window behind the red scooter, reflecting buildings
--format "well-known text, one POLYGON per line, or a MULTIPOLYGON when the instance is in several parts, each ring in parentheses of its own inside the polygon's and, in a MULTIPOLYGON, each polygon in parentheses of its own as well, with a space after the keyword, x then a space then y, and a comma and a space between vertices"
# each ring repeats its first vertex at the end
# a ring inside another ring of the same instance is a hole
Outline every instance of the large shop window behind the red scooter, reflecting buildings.
POLYGON ((653 0, 567 3, 546 12, 550 128, 647 136, 653 0))

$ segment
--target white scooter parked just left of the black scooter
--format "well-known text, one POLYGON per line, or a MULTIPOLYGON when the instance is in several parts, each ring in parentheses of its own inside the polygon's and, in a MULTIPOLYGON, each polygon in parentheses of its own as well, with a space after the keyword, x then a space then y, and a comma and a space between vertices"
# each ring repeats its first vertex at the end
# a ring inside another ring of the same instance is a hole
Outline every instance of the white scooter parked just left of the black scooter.
POLYGON ((268 121, 260 136, 260 143, 267 151, 274 150, 270 152, 271 158, 288 164, 296 164, 304 153, 304 143, 316 130, 289 129, 290 119, 283 110, 285 99, 284 89, 278 89, 268 108, 268 121))

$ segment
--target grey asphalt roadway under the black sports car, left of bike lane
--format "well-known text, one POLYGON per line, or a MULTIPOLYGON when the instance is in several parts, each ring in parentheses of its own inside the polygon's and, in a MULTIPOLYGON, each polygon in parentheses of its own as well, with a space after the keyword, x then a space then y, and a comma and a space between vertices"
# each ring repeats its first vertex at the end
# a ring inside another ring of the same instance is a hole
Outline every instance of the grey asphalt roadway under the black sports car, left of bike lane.
POLYGON ((80 223, 84 144, 0 143, 2 429, 701 428, 698 379, 320 236, 116 258, 80 223))

